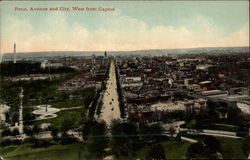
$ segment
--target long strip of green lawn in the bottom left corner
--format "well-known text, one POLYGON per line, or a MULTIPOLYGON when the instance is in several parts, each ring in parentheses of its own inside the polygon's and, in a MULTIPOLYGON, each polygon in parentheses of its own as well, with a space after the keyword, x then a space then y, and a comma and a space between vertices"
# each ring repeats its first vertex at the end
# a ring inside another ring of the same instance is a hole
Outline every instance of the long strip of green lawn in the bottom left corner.
POLYGON ((32 144, 11 145, 0 149, 5 160, 82 160, 86 155, 84 145, 51 145, 46 148, 33 148, 32 144))

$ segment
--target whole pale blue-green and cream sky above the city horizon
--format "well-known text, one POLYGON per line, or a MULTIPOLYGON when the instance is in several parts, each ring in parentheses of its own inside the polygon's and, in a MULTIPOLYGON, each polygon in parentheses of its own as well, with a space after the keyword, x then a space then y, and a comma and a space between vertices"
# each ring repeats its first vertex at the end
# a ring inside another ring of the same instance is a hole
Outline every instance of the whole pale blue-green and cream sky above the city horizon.
POLYGON ((1 53, 249 46, 249 1, 1 1, 1 53), (15 7, 28 11, 15 11, 15 7), (70 8, 71 11, 30 11, 70 8), (73 11, 72 7, 97 8, 73 11), (98 11, 98 8, 115 11, 98 11))

